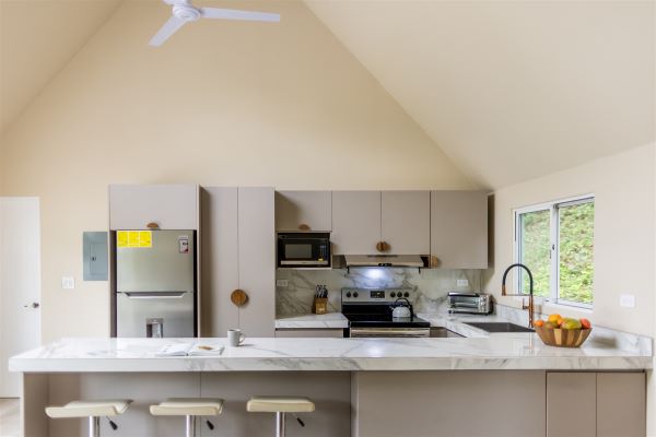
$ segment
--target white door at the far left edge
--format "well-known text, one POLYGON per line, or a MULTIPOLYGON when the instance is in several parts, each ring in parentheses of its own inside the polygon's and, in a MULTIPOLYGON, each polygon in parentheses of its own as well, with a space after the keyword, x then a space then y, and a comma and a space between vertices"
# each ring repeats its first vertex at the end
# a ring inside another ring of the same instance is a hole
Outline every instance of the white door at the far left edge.
POLYGON ((0 398, 20 397, 10 356, 40 344, 38 198, 0 198, 0 398))

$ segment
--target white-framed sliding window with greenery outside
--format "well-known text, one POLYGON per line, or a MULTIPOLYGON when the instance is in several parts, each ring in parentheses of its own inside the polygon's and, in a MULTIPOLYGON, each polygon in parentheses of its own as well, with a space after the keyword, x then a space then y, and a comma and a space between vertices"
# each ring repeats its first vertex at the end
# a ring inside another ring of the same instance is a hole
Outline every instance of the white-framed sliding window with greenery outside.
MULTIPOLYGON (((563 305, 591 308, 595 200, 593 197, 515 211, 516 261, 534 276, 534 294, 563 305)), ((528 294, 524 270, 517 293, 528 294)))

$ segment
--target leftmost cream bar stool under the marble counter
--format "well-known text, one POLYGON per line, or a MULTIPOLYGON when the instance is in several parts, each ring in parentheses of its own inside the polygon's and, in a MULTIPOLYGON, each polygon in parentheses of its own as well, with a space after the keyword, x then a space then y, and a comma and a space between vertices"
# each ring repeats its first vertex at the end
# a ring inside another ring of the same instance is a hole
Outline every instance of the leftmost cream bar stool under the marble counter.
POLYGON ((113 429, 118 426, 109 417, 117 416, 128 410, 132 403, 129 399, 103 401, 73 401, 63 406, 47 406, 46 414, 52 418, 89 417, 89 437, 101 437, 101 417, 107 417, 113 429))

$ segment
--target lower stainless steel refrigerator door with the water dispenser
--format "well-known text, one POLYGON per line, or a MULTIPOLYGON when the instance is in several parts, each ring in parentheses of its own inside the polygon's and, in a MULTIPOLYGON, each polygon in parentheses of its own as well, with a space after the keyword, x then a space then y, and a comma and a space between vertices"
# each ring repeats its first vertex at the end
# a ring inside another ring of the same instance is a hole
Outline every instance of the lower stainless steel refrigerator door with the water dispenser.
POLYGON ((196 293, 117 293, 116 300, 119 338, 196 336, 196 293))

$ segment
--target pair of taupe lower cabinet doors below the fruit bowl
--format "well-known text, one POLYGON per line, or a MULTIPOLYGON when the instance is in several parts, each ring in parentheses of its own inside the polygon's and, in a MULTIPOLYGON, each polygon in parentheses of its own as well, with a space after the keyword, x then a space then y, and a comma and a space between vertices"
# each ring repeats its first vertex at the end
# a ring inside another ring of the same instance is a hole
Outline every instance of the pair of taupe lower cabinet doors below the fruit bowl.
POLYGON ((644 437, 644 373, 547 374, 547 437, 644 437))

